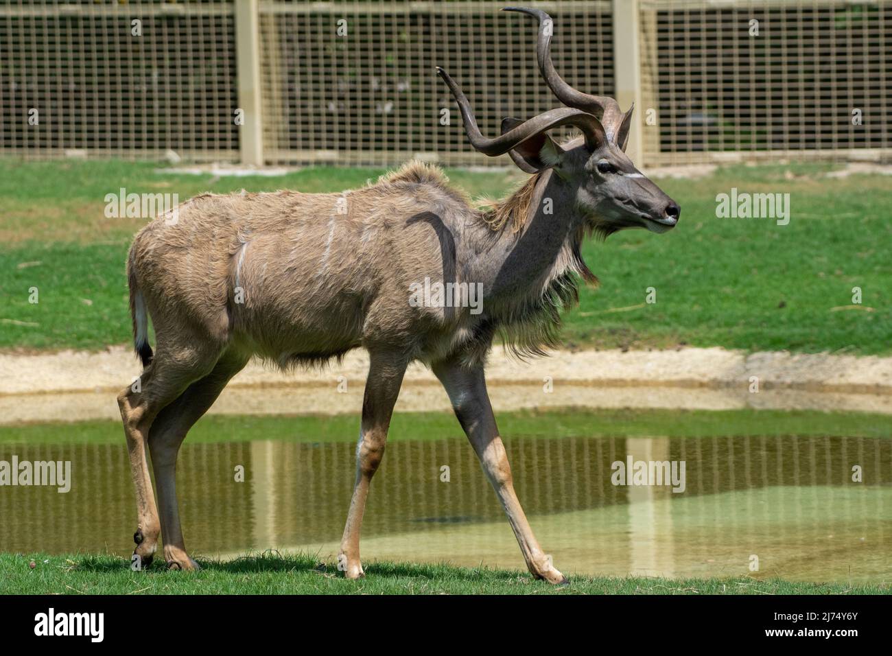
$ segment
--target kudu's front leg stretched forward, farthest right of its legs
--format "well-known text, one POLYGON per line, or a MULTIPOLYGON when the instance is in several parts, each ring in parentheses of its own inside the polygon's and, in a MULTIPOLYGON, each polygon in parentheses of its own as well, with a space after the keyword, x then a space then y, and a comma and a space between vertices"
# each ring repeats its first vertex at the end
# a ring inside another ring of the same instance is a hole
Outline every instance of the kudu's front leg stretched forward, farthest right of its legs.
POLYGON ((520 544, 520 551, 524 554, 527 569, 533 577, 543 578, 549 583, 566 583, 566 577, 555 569, 549 556, 542 552, 536 536, 533 536, 533 529, 526 520, 524 509, 517 501, 508 456, 499 436, 496 419, 492 415, 489 394, 486 392, 483 367, 467 369, 457 362, 440 362, 434 365, 434 373, 446 388, 458 422, 474 446, 491 486, 499 495, 517 544, 520 544))

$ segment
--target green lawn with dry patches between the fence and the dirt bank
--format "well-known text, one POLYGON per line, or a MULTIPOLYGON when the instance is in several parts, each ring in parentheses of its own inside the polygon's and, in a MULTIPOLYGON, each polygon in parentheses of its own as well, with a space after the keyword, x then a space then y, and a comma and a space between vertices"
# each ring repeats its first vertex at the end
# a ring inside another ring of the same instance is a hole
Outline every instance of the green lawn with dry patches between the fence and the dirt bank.
MULTIPOLYGON (((822 178, 830 166, 735 166, 660 184, 681 204, 665 235, 627 230, 584 245, 601 279, 566 313, 568 346, 724 346, 892 353, 892 185, 822 178), (715 195, 789 193, 789 225, 717 219, 715 195), (852 288, 863 303, 852 303, 852 288), (657 303, 645 303, 654 287, 657 303)), ((104 196, 358 187, 381 169, 309 168, 284 177, 172 174, 132 162, 0 161, 0 349, 96 349, 130 341, 124 260, 142 220, 106 219, 104 196), (37 287, 39 303, 29 303, 37 287)), ((502 195, 513 171, 448 170, 471 195, 502 195)))

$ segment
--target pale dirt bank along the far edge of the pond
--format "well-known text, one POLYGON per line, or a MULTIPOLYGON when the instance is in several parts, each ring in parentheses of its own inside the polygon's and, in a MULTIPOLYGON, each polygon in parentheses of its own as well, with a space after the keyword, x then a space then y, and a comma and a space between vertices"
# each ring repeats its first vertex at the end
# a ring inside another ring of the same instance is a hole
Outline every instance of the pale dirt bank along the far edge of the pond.
MULTIPOLYGON (((368 355, 340 366, 283 374, 252 362, 211 412, 358 413, 368 355)), ((140 368, 133 353, 0 354, 0 423, 117 419, 115 394, 140 368)), ((488 368, 499 410, 533 407, 802 408, 892 413, 892 358, 752 353, 720 348, 677 351, 557 352, 517 361, 501 349, 488 368), (758 393, 751 391, 758 380, 758 393)), ((434 375, 407 372, 397 411, 449 410, 434 375)))

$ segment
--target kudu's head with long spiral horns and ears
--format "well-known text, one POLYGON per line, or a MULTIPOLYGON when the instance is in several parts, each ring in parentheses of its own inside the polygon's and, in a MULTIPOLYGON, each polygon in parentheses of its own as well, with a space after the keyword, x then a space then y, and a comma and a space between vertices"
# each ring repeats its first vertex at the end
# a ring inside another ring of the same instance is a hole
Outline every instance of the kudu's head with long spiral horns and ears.
POLYGON ((611 234, 623 228, 665 232, 678 223, 681 209, 662 189, 635 168, 625 154, 632 126, 632 107, 622 112, 606 96, 589 95, 570 87, 551 63, 551 18, 538 9, 507 7, 539 19, 536 55, 542 78, 566 107, 549 110, 530 120, 502 120, 501 136, 483 137, 467 97, 446 71, 437 73, 458 102, 471 144, 483 154, 508 153, 527 173, 553 170, 572 189, 574 204, 591 228, 611 234), (546 131, 572 125, 582 138, 556 144, 546 131))

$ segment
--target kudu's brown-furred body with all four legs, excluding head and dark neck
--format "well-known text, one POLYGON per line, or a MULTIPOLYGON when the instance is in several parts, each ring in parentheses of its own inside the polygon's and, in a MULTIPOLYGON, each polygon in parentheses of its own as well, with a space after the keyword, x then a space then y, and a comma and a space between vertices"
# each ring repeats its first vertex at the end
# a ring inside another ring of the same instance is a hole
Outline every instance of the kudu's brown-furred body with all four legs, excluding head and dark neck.
MULTIPOLYGON (((368 483, 383 454, 402 373, 409 361, 420 360, 431 364, 450 393, 531 571, 563 580, 535 544, 516 502, 504 449, 493 442, 497 429, 488 400, 480 405, 467 398, 468 391, 485 395, 483 361, 496 329, 519 352, 540 353, 554 339, 558 307, 575 298, 572 274, 588 271, 578 250, 584 230, 575 224, 568 224, 532 276, 502 280, 491 276, 499 267, 489 273, 481 268, 487 253, 509 256, 528 232, 539 179, 483 212, 448 187, 440 170, 412 162, 375 185, 340 195, 199 195, 141 230, 128 257, 128 282, 145 370, 141 389, 128 388, 119 403, 140 517, 135 553, 142 562, 152 560, 161 533, 170 567, 197 567, 179 526, 178 449, 253 355, 287 368, 324 363, 363 346, 372 364, 344 529, 347 575, 362 574, 359 526, 368 483), (468 284, 483 279, 487 310, 413 307, 409 287, 425 278, 468 284), (155 328, 154 355, 145 339, 146 311, 155 328), (467 416, 468 403, 475 417, 482 413, 479 418, 467 416)), ((535 235, 529 237, 535 242, 535 235)))

